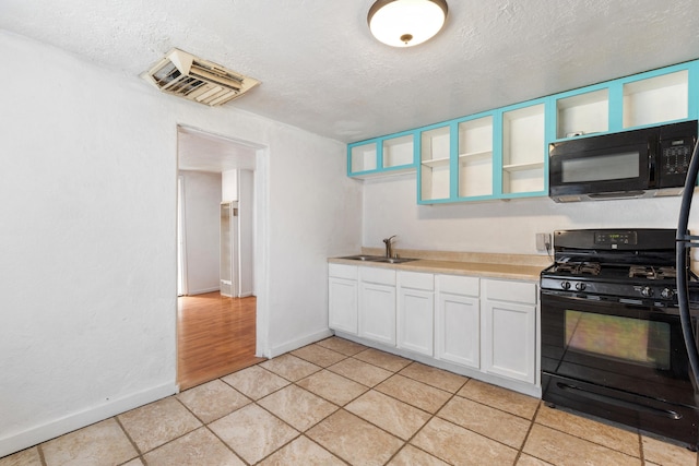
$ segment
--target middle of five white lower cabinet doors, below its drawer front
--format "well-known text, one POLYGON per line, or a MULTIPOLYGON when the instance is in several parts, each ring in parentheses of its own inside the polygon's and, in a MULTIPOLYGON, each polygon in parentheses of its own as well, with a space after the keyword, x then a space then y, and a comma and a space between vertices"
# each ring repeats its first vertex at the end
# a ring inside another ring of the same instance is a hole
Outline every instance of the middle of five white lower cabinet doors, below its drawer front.
POLYGON ((398 297, 398 347, 427 356, 434 354, 435 294, 401 288, 398 297))

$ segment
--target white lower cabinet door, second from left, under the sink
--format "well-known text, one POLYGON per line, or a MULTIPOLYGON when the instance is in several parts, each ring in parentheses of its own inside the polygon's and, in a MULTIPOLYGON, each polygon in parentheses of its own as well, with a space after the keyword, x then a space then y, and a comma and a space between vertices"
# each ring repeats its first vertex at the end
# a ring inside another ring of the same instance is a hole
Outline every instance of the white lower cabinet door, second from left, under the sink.
POLYGON ((395 287, 363 282, 359 336, 395 346, 395 287))

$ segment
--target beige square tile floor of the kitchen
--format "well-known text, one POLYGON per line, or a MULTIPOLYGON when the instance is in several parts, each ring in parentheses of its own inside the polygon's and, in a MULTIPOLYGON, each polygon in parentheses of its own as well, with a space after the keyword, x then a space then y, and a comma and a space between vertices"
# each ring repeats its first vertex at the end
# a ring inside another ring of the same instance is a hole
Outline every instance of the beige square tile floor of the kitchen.
POLYGON ((0 458, 58 465, 697 465, 697 454, 331 337, 0 458))

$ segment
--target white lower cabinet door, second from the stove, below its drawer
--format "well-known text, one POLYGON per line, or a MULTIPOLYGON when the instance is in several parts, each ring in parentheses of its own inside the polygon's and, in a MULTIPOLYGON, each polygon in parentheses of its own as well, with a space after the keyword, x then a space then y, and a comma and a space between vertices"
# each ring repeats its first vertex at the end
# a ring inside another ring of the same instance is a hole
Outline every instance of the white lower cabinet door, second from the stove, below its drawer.
POLYGON ((439 359, 478 369, 481 326, 478 298, 437 295, 437 347, 439 359))

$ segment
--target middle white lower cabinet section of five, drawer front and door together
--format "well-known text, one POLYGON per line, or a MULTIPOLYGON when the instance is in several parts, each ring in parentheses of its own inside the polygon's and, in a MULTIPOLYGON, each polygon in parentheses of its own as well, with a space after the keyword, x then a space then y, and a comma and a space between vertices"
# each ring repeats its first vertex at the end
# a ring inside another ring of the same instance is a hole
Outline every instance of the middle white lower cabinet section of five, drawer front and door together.
POLYGON ((435 276, 398 273, 398 347, 434 355, 435 276))

